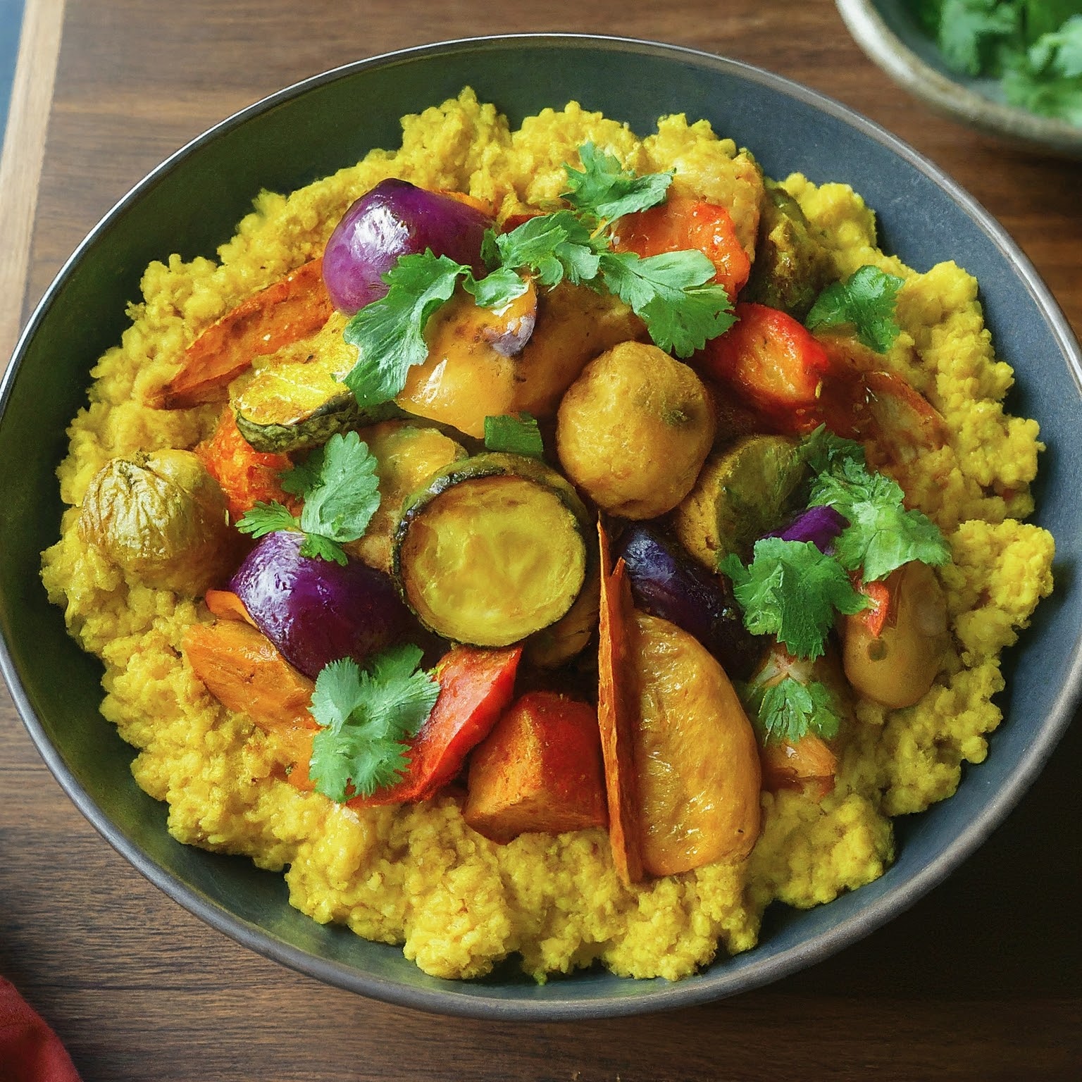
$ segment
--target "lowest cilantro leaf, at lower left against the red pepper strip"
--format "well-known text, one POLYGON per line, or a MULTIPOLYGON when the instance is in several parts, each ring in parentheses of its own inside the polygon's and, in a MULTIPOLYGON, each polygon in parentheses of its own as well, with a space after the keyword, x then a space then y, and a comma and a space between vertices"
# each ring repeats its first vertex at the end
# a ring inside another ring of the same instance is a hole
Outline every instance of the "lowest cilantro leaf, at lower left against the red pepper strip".
POLYGON ((371 796, 406 774, 408 741, 439 696, 436 679, 417 668, 421 656, 407 643, 371 658, 367 671, 349 658, 319 671, 312 716, 321 728, 308 765, 317 792, 341 803, 371 796))

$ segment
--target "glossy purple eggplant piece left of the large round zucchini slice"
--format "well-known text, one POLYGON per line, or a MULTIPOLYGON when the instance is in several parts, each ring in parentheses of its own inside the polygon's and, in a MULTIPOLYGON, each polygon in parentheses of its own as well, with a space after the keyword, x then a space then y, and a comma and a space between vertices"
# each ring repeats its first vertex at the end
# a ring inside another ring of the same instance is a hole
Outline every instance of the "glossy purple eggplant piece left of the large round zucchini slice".
POLYGON ((356 559, 342 567, 302 556, 302 541, 287 530, 266 535, 229 581, 290 664, 315 677, 340 658, 361 663, 406 639, 427 645, 390 576, 356 559))

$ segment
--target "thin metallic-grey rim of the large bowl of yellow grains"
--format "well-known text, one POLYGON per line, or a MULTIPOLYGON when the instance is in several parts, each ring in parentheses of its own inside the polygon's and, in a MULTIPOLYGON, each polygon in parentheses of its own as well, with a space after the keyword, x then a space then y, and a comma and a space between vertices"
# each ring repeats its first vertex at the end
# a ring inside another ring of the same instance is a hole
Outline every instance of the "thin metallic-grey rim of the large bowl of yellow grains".
MULTIPOLYGON (((972 196, 937 166, 897 136, 834 98, 767 69, 741 61, 735 61, 690 47, 674 45, 645 39, 605 35, 544 32, 448 39, 354 61, 302 79, 276 91, 239 109, 190 140, 124 194, 88 233, 85 238, 57 272, 52 283, 36 305, 23 333, 19 335, 11 364, 3 375, 2 382, 0 382, 0 418, 2 418, 5 410, 11 386, 27 352, 29 342, 57 293, 68 278, 75 274, 87 249, 95 242, 98 235, 115 219, 122 215, 145 192, 176 169, 180 163, 203 144, 217 138, 225 132, 232 131, 251 117, 266 113, 283 101, 291 100, 317 87, 348 77, 366 68, 387 66, 414 58, 462 50, 488 52, 513 50, 518 47, 605 49, 663 55, 668 58, 692 63, 700 68, 735 75, 738 78, 758 83, 786 96, 793 97, 819 111, 826 113, 850 128, 857 129, 919 170, 938 187, 945 189, 976 224, 980 226, 986 236, 994 243, 1007 263, 1021 278, 1030 295, 1046 318, 1071 374, 1080 387, 1082 387, 1082 351, 1079 348, 1066 317, 1052 296, 1048 288, 1041 280, 1032 263, 1015 245, 1006 230, 972 196)), ((299 973, 391 1004, 443 1015, 496 1020, 577 1020, 626 1016, 700 1005, 738 992, 750 991, 794 973, 797 969, 828 958, 843 947, 849 946, 887 923, 927 894, 928 890, 940 883, 954 868, 966 859, 1003 821, 1024 792, 1032 784, 1055 744, 1066 730, 1067 725, 1070 723, 1080 699, 1082 699, 1082 636, 1076 641, 1071 657, 1070 671, 1055 698, 1054 709, 1044 718, 1037 737, 1026 749, 1018 767, 1012 774, 1008 781, 982 807, 979 817, 967 823, 935 859, 920 868, 909 880, 898 887, 892 888, 884 896, 870 901, 859 912, 844 918, 831 928, 812 936, 795 948, 775 956, 764 958, 750 966, 735 972, 726 973, 725 971, 720 971, 710 973, 707 969, 697 976, 685 978, 678 982, 670 982, 662 978, 636 981, 637 990, 626 997, 583 999, 575 995, 563 995, 559 998, 545 998, 543 1000, 530 1000, 528 998, 505 999, 485 993, 464 994, 462 991, 463 987, 470 987, 469 982, 464 981, 440 981, 441 985, 446 985, 446 988, 417 988, 404 986, 396 980, 385 977, 366 974, 342 962, 313 955, 300 947, 279 939, 261 926, 225 910, 195 887, 182 882, 123 835, 94 803, 88 791, 75 777, 74 771, 64 763, 58 750, 49 739, 42 723, 35 714, 3 631, 0 629, 0 672, 2 672, 9 685, 23 723, 45 765, 56 778, 62 789, 97 832, 155 886, 211 927, 264 958, 277 961, 299 973)), ((613 979, 619 980, 624 978, 613 979)), ((476 989, 483 986, 474 984, 472 987, 476 989)))

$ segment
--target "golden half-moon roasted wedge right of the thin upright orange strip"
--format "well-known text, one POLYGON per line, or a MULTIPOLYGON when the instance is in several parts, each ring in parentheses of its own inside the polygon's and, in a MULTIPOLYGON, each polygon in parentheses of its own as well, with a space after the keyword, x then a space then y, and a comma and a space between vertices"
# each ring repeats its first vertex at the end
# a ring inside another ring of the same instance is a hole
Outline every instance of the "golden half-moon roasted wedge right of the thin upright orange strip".
POLYGON ((673 875, 747 856, 758 837, 761 768, 728 677, 686 631, 642 612, 630 661, 645 871, 673 875))

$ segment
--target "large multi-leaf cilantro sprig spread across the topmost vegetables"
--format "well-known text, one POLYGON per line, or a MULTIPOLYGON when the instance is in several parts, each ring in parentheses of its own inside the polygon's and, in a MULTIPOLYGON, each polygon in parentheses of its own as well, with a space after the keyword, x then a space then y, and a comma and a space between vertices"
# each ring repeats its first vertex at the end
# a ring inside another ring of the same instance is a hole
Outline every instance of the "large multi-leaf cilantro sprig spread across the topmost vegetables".
POLYGON ((487 230, 480 278, 465 264, 425 251, 401 256, 383 276, 387 293, 361 308, 344 338, 358 349, 345 383, 361 406, 388 401, 412 365, 427 356, 430 316, 461 286, 484 307, 499 308, 526 288, 525 278, 553 288, 562 281, 619 296, 643 320, 655 344, 689 357, 735 321, 715 267, 699 251, 641 258, 611 250, 620 217, 663 202, 671 173, 636 175, 592 143, 579 148, 582 170, 565 167, 569 208, 528 219, 506 234, 487 230))

